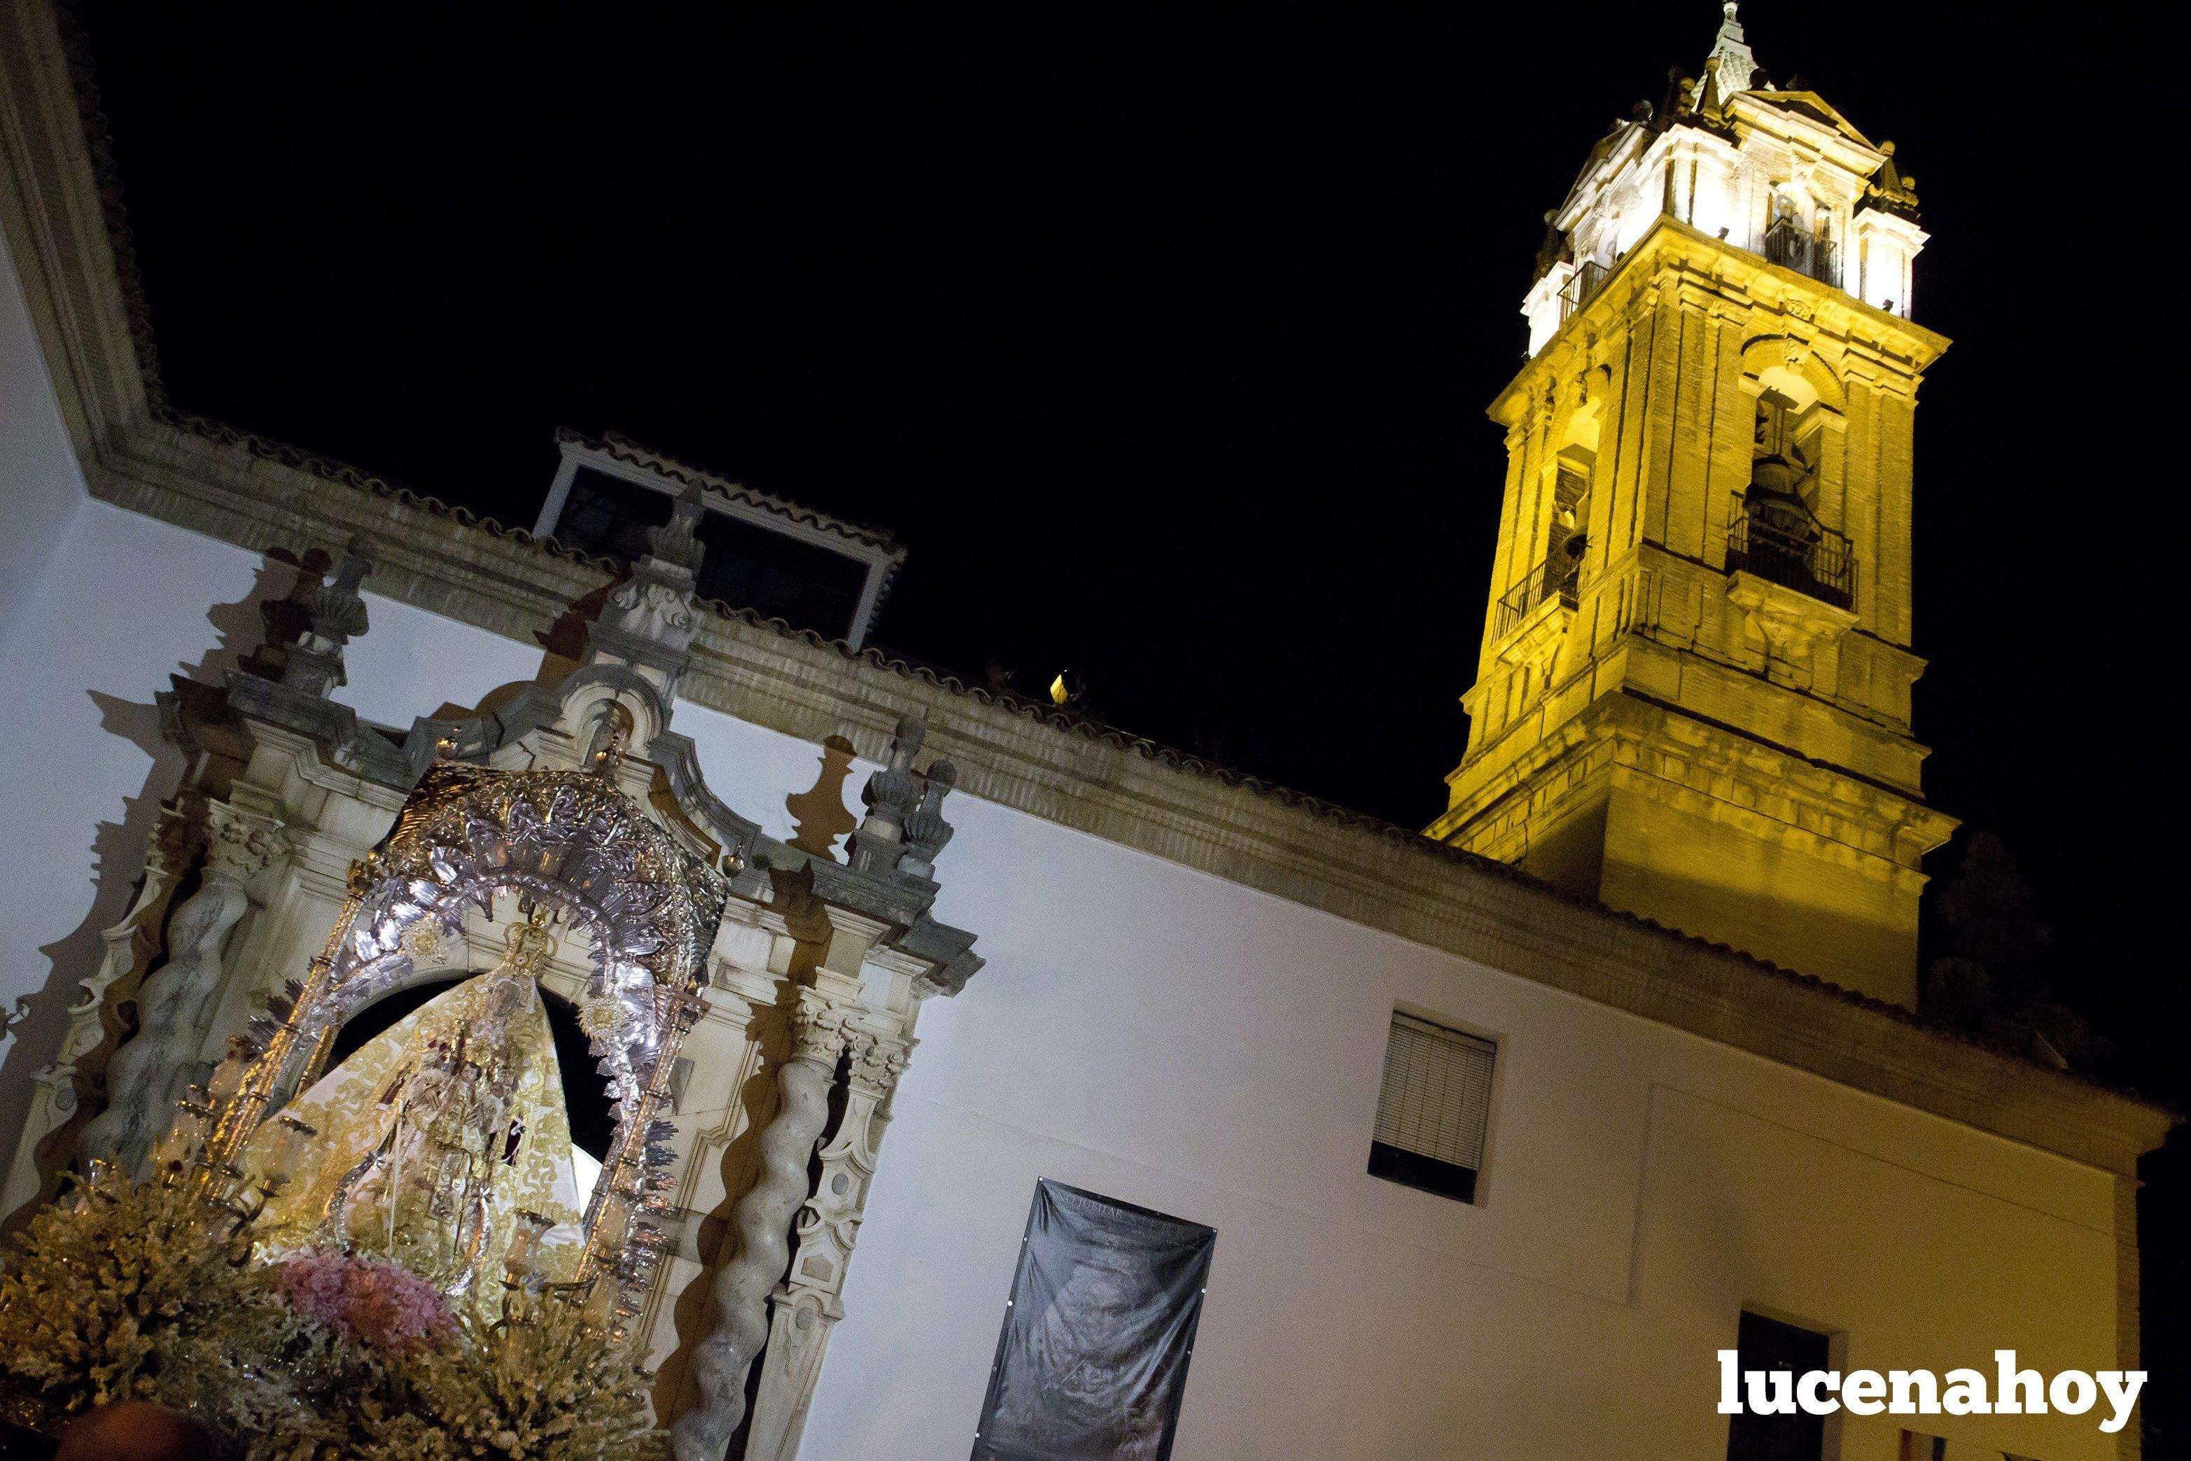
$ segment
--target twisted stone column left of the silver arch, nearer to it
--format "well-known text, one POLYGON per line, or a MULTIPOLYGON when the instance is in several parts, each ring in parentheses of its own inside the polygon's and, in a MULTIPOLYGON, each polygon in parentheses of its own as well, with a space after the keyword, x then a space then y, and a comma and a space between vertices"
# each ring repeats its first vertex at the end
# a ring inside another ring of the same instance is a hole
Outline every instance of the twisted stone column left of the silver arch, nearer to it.
POLYGON ((197 1049, 221 990, 221 944, 250 907, 248 887, 283 852, 280 824, 206 804, 206 876, 169 922, 169 962, 138 986, 138 1032, 107 1062, 107 1108, 83 1128, 85 1157, 145 1165, 197 1075, 197 1049))

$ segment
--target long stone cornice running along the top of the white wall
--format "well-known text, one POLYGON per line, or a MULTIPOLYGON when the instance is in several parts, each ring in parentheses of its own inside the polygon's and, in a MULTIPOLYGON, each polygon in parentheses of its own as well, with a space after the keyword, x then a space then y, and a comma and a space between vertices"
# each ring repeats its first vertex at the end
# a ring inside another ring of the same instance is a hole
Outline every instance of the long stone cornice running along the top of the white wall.
MULTIPOLYGON (((252 552, 333 548, 372 530, 377 594, 524 642, 611 580, 583 554, 278 442, 180 421, 149 394, 156 377, 140 368, 131 329, 142 307, 116 265, 127 239, 116 245, 101 210, 68 57, 42 0, 0 9, 0 228, 99 499, 252 552)), ((1602 296, 1606 307, 1613 298, 1602 296)), ((1829 329, 1867 346, 1882 377, 1911 383, 1937 350, 1930 331, 1858 304, 1840 307, 1829 329)), ((1516 388, 1551 370, 1553 355, 1516 388)), ((1411 830, 876 651, 714 607, 681 694, 802 740, 850 734, 874 760, 901 716, 925 718, 929 747, 951 756, 968 795, 2073 1161, 2134 1172, 2176 1121, 2134 1095, 1564 898, 1411 830)))

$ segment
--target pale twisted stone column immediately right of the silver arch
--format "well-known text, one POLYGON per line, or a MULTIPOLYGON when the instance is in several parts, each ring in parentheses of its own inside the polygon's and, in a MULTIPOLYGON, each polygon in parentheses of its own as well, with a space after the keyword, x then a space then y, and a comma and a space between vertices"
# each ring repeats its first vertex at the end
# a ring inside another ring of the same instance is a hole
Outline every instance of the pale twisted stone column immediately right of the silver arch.
POLYGON ((791 1264, 791 1216, 806 1203, 806 1161, 828 1126, 852 1014, 811 988, 798 992, 791 1058, 776 1073, 776 1117, 760 1132, 760 1176, 732 1209, 738 1257, 714 1275, 714 1330, 692 1351, 701 1402, 670 1433, 677 1461, 723 1461, 745 1419, 745 1371, 769 1343, 769 1292, 791 1264))

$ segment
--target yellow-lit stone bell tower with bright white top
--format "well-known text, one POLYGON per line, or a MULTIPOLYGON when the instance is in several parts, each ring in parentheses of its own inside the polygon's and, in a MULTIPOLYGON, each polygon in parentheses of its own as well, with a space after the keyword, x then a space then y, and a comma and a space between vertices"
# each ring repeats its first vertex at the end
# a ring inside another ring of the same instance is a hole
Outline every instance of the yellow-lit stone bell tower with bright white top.
POLYGON ((1727 4, 1547 221, 1431 835, 1913 1005, 1954 830, 1911 736, 1911 423, 1948 346, 1911 322, 1913 180, 1727 4))

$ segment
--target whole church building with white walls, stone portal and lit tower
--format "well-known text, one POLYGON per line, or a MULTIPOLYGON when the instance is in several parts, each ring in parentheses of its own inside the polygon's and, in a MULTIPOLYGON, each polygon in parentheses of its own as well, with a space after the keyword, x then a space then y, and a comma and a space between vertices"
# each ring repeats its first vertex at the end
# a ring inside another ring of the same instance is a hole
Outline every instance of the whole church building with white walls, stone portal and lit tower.
MULTIPOLYGON (((0 15, 0 1218, 142 1161, 478 769, 613 791, 721 909, 677 1060, 565 1071, 581 1148, 587 1100, 657 1139, 594 1157, 657 1235, 624 1319, 681 1461, 1049 1454, 999 1439, 1041 1424, 1003 1373, 1120 1369, 1049 1321, 1152 1305, 1122 1233, 1159 1218, 1198 1264, 1161 1404, 1054 1454, 2141 1454, 2064 1415, 1748 1452, 1716 1413, 1727 1347, 2136 1369, 2171 1126, 1917 1012, 1948 342, 1891 145, 1775 90, 1733 4, 1549 217, 1426 837, 863 648, 887 534, 631 442, 561 438, 511 530, 171 410, 42 4, 0 15), (1043 1279, 1074 1203, 1124 1218, 1043 1279)), ((313 1069, 557 891, 502 817, 511 898, 368 948, 313 1069)), ((583 1019, 563 944, 539 983, 583 1019)))

